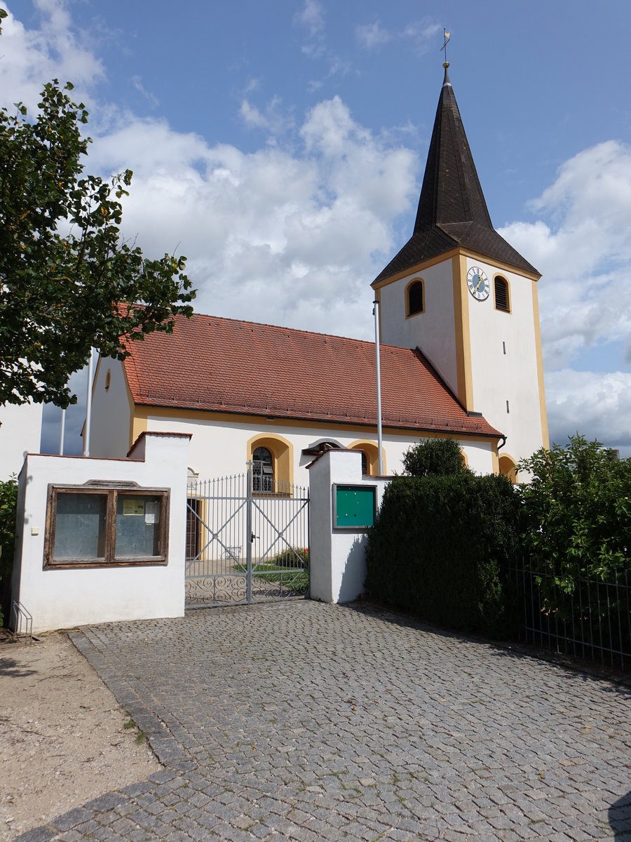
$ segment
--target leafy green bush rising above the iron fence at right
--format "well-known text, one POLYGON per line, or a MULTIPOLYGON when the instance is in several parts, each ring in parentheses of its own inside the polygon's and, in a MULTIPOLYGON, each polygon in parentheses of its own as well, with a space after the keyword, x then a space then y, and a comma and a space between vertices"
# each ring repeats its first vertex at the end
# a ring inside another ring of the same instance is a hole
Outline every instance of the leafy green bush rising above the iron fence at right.
POLYGON ((532 482, 521 487, 524 548, 571 593, 579 577, 631 570, 631 459, 583 436, 537 450, 519 463, 532 482))

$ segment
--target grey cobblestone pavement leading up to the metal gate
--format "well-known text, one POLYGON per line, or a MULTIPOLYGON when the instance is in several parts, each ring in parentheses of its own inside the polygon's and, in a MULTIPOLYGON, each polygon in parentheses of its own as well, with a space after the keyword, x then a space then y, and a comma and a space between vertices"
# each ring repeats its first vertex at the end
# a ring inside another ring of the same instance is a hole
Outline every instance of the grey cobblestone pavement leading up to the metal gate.
POLYGON ((623 685, 369 605, 72 639, 166 768, 22 842, 631 839, 623 685))

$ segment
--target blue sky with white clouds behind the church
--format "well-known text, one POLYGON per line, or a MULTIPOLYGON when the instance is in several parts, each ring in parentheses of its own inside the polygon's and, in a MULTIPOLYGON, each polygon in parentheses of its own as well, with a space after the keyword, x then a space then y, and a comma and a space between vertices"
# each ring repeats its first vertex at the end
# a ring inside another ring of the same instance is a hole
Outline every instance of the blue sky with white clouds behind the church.
POLYGON ((446 26, 491 218, 543 274, 551 438, 631 455, 627 0, 4 5, 3 104, 76 84, 87 168, 134 170, 125 236, 188 256, 199 312, 359 338, 411 235, 446 26))

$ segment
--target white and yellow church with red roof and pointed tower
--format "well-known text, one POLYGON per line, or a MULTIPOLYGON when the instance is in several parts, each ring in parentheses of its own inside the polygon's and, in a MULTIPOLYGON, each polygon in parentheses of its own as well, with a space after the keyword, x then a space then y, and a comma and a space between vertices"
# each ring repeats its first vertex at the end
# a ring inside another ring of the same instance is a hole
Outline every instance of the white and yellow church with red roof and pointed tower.
MULTIPOLYGON (((539 274, 493 229, 447 64, 411 239, 374 280, 384 472, 411 445, 458 440, 478 473, 548 446, 539 274)), ((93 384, 90 452, 125 456, 145 432, 191 433, 189 476, 242 473, 255 490, 306 485, 331 447, 378 472, 375 348, 357 339, 203 316, 177 317, 93 384)))

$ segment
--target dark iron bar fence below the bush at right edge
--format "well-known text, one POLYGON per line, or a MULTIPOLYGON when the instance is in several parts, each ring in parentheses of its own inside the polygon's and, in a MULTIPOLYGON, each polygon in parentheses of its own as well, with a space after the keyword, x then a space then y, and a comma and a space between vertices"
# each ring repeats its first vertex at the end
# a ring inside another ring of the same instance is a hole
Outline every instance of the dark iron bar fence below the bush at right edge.
POLYGON ((523 610, 522 638, 535 646, 612 669, 631 669, 631 575, 576 578, 561 586, 537 559, 510 570, 523 610))

